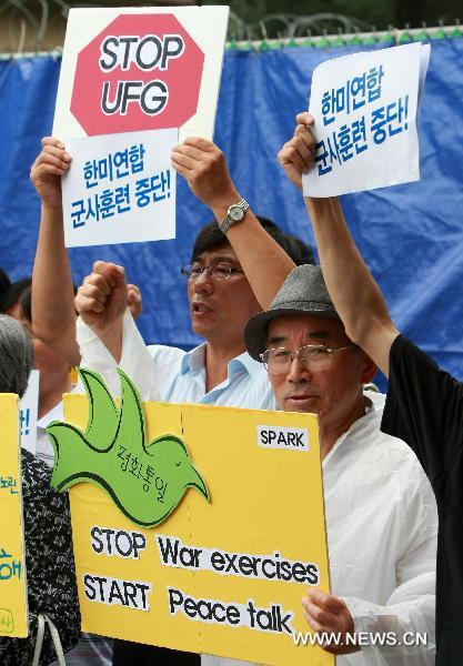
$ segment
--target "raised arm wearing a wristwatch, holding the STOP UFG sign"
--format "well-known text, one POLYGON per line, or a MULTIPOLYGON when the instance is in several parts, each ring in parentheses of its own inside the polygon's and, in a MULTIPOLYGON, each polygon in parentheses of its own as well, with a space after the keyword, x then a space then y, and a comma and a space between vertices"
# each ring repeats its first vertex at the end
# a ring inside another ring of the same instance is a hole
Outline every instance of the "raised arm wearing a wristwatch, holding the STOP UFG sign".
MULTIPOLYGON (((205 203, 218 221, 241 199, 230 176, 224 154, 211 141, 191 138, 177 145, 172 163, 193 194, 205 203)), ((244 219, 227 232, 241 266, 261 306, 266 310, 294 268, 294 262, 266 233, 248 209, 244 219)))

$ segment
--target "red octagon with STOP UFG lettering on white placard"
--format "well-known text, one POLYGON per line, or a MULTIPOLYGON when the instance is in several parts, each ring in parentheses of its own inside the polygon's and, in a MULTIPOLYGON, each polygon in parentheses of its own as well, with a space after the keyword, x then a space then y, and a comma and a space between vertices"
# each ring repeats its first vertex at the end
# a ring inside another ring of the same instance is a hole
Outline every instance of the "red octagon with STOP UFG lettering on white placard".
POLYGON ((121 14, 79 51, 71 112, 89 137, 181 128, 204 53, 173 14, 121 14))

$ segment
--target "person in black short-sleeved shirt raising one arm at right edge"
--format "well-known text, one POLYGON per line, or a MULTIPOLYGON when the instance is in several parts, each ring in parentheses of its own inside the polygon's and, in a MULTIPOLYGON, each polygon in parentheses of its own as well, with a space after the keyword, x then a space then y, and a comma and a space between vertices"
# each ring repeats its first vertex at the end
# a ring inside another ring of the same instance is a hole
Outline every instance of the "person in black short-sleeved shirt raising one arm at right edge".
MULTIPOLYGON (((309 113, 296 118, 294 137, 279 159, 301 189, 312 165, 313 137, 309 113)), ((463 384, 442 371, 402 335, 384 297, 363 262, 336 199, 305 199, 323 274, 349 337, 389 376, 381 427, 415 452, 435 493, 437 545, 437 666, 456 664, 463 654, 463 457, 461 413, 463 384)))

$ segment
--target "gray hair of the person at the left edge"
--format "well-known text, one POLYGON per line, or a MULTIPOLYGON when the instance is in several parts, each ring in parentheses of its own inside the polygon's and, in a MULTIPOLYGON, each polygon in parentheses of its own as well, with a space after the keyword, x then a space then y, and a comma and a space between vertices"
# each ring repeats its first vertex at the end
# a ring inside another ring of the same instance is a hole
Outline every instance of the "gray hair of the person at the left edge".
POLYGON ((32 341, 11 316, 0 314, 0 393, 22 397, 32 367, 32 341))

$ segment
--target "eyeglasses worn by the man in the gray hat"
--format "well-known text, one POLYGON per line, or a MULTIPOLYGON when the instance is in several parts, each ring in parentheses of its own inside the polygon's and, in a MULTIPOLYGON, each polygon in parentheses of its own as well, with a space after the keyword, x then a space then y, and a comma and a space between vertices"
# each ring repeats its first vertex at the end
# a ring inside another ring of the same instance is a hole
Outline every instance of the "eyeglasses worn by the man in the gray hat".
POLYGON ((325 347, 323 344, 308 344, 296 352, 288 347, 271 347, 261 354, 262 363, 269 374, 288 374, 293 359, 299 359, 303 365, 312 370, 325 370, 331 364, 335 352, 350 350, 355 346, 349 344, 342 347, 325 347))

